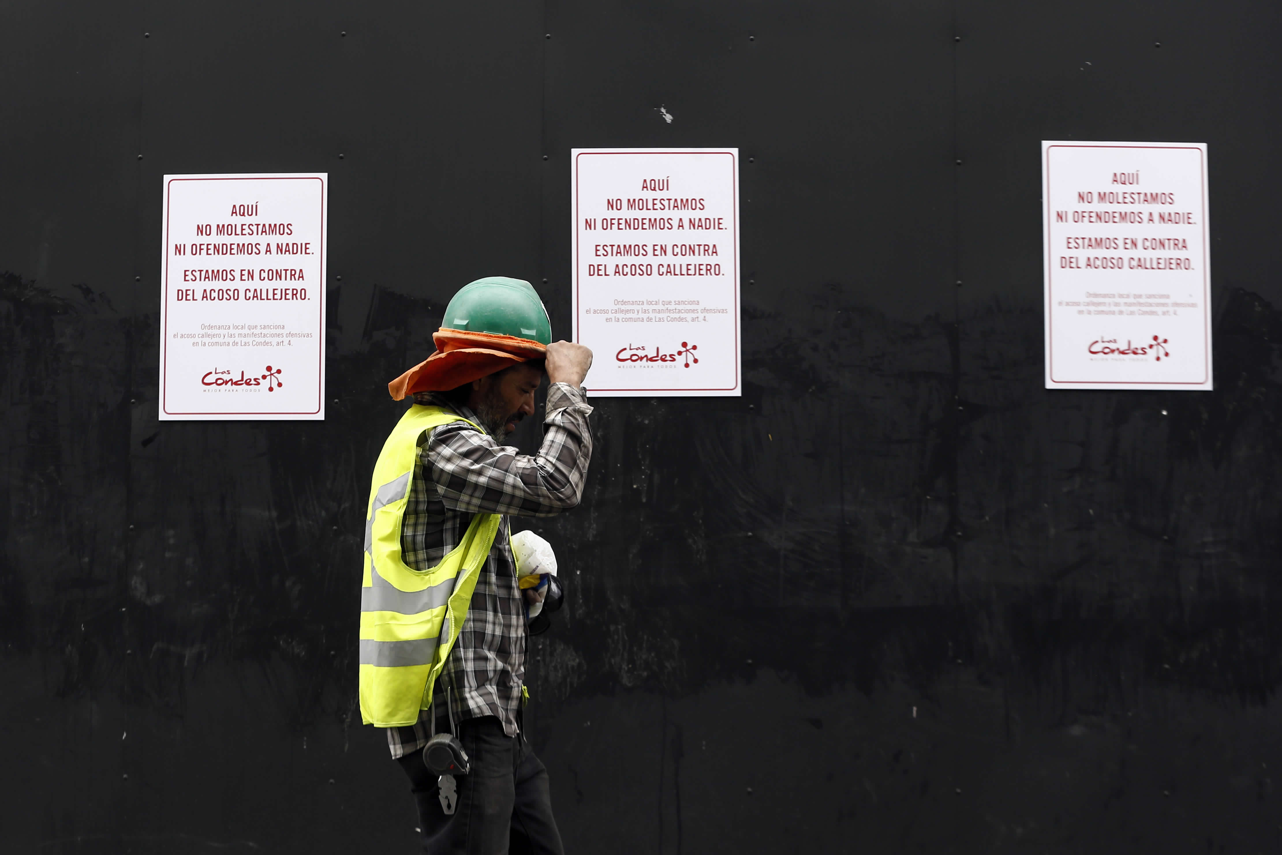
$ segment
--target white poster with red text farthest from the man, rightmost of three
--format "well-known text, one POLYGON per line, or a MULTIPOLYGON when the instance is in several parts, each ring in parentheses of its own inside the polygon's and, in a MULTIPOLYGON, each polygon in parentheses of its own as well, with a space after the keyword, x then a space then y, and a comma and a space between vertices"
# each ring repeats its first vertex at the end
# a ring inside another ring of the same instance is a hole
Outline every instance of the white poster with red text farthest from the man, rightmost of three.
POLYGON ((1206 146, 1042 142, 1046 388, 1211 387, 1206 146))

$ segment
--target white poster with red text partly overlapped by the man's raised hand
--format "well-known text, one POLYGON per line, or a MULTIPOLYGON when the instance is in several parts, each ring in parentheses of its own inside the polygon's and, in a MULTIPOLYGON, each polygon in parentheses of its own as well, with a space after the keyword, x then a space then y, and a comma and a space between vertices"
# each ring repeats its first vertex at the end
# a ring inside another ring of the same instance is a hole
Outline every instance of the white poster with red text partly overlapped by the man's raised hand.
POLYGON ((573 149, 594 396, 740 395, 738 149, 573 149))

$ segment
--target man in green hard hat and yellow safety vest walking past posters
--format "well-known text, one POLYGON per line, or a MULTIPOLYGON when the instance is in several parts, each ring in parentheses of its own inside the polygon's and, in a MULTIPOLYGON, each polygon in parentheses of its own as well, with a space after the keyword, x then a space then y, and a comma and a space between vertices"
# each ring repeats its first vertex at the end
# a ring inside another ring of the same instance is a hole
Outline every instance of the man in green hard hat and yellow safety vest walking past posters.
POLYGON ((464 286, 433 338, 437 351, 388 385, 414 406, 374 468, 362 718, 387 728, 424 852, 560 854, 547 770, 522 731, 527 604, 544 595, 518 585, 508 517, 578 504, 592 452, 581 388, 592 354, 551 344, 533 287, 501 277, 464 286), (542 445, 520 455, 503 440, 533 414, 545 370, 542 445), (458 738, 465 774, 428 769, 424 746, 447 741, 433 733, 458 738))

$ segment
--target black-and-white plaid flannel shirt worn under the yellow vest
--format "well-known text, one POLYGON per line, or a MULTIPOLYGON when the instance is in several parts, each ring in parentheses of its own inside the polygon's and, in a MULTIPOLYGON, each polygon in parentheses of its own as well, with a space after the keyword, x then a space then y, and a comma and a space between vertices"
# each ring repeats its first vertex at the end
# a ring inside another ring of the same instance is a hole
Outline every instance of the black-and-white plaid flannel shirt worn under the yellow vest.
MULTIPOLYGON (((414 395, 414 403, 444 406, 481 423, 470 409, 432 392, 414 395)), ((508 515, 551 517, 578 504, 592 455, 591 411, 582 390, 553 383, 536 456, 517 454, 467 422, 442 424, 420 440, 401 528, 409 567, 426 570, 438 564, 458 546, 474 514, 504 515, 433 692, 449 702, 455 722, 494 715, 508 736, 517 735, 528 636, 508 515)), ((423 710, 417 724, 387 728, 394 758, 427 745, 431 715, 432 710, 423 710)))

